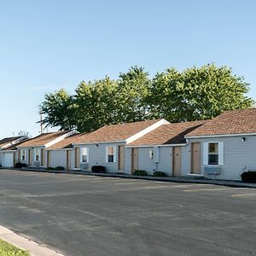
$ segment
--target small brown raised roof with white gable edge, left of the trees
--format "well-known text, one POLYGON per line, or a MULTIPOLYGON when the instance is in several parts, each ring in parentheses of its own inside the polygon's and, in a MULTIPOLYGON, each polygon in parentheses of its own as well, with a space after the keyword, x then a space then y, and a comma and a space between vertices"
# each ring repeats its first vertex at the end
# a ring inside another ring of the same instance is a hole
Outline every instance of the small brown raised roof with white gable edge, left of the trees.
POLYGON ((45 144, 55 140, 57 137, 60 137, 66 134, 68 131, 55 131, 49 133, 43 133, 34 137, 25 143, 21 143, 18 148, 29 148, 29 147, 39 147, 44 146, 45 144))

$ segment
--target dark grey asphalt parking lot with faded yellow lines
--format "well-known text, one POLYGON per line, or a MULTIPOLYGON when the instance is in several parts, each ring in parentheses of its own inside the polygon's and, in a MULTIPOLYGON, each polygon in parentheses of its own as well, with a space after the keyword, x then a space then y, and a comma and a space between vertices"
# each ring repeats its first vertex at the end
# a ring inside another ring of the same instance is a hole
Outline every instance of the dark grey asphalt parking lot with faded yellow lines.
POLYGON ((256 255, 256 189, 0 170, 0 224, 67 256, 256 255))

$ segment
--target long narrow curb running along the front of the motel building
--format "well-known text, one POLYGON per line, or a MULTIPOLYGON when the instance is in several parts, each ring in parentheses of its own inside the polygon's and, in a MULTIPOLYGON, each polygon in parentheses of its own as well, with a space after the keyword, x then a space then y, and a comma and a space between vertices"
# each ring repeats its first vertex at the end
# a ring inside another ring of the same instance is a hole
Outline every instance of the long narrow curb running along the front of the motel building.
MULTIPOLYGON (((7 170, 5 168, 1 168, 7 170)), ((119 174, 119 173, 92 173, 92 172, 77 172, 77 171, 53 171, 53 170, 44 170, 44 169, 14 169, 10 168, 9 170, 21 171, 21 172, 48 172, 55 174, 76 174, 76 175, 86 175, 86 176, 98 176, 98 177, 121 177, 121 178, 130 178, 130 179, 143 179, 150 181, 160 181, 160 182, 172 182, 172 183, 201 183, 201 184, 214 184, 220 186, 229 186, 235 188, 250 188, 256 189, 256 183, 242 183, 236 181, 228 180, 216 180, 216 179, 206 179, 206 178, 188 178, 188 177, 152 177, 152 176, 132 176, 129 174, 119 174)))

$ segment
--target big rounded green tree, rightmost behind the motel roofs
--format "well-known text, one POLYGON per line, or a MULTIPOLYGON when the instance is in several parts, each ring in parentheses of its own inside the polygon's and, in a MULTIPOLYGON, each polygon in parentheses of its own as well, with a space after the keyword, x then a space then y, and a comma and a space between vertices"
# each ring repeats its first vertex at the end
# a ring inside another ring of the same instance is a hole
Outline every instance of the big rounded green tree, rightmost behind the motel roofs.
POLYGON ((172 122, 212 119, 224 110, 251 108, 248 86, 229 67, 209 64, 181 73, 172 68, 155 75, 147 102, 154 118, 172 122))

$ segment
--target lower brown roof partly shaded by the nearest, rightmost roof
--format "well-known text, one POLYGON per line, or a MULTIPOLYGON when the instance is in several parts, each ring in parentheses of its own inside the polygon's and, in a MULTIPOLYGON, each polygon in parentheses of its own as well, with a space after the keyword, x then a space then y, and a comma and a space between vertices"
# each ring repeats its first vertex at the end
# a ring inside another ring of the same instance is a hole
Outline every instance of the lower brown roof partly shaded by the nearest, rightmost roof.
POLYGON ((205 122, 206 121, 192 121, 161 125, 154 131, 150 131, 148 134, 130 143, 129 146, 185 143, 186 140, 184 136, 190 131, 193 131, 196 128, 200 127, 205 122))

